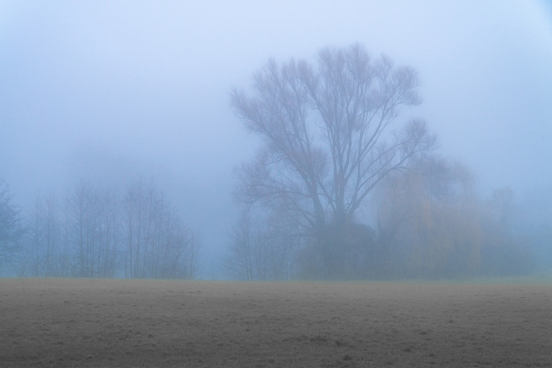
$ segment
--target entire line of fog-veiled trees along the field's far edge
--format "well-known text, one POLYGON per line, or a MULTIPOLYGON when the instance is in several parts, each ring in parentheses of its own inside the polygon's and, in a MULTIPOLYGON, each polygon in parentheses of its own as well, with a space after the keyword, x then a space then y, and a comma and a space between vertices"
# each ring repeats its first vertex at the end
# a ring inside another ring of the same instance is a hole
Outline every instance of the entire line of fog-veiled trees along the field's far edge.
MULTIPOLYGON (((550 266, 552 224, 528 235, 511 189, 482 199, 426 122, 406 119, 419 86, 414 68, 355 43, 322 48, 315 62, 269 59, 251 90, 233 90, 235 115, 262 145, 234 171, 228 277, 457 278, 550 266)), ((15 259, 21 275, 197 275, 199 240, 142 177, 122 193, 83 180, 64 197, 37 195, 27 216, 0 186, 0 226, 0 262, 15 259)))

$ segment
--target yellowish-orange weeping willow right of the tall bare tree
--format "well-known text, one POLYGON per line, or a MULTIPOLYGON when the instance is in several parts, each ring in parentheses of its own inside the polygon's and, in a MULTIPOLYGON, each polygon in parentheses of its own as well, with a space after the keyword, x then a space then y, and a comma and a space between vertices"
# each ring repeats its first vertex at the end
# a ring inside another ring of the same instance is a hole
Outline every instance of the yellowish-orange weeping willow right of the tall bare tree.
POLYGON ((423 159, 380 187, 379 267, 384 277, 474 275, 483 244, 473 175, 457 162, 423 159))

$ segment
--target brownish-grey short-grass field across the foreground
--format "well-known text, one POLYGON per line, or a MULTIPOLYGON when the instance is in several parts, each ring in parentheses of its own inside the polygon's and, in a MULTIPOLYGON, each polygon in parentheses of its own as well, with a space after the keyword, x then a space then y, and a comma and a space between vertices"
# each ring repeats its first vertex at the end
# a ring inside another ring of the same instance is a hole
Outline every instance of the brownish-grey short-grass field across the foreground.
POLYGON ((1 367, 550 367, 552 285, 0 279, 1 367))

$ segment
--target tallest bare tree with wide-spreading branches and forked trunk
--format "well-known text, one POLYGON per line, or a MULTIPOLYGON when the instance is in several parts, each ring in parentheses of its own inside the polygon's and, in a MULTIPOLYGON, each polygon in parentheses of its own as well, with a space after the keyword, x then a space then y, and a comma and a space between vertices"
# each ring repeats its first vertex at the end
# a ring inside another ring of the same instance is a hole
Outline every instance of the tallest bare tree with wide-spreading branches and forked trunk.
POLYGON ((373 60, 360 44, 323 48, 317 61, 270 59, 255 73, 253 97, 233 91, 236 115, 265 142, 237 169, 236 195, 299 218, 322 276, 333 277, 343 269, 340 242, 368 193, 433 149, 435 136, 421 120, 388 131, 403 106, 420 103, 412 68, 373 60))

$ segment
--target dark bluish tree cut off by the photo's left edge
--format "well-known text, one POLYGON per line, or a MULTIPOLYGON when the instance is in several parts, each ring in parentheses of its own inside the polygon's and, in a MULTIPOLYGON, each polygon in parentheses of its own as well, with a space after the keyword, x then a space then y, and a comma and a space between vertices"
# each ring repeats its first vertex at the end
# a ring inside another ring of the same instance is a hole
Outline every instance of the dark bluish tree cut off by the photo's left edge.
POLYGON ((0 270, 19 250, 23 233, 21 209, 14 204, 8 185, 0 180, 0 270))

